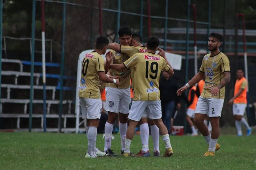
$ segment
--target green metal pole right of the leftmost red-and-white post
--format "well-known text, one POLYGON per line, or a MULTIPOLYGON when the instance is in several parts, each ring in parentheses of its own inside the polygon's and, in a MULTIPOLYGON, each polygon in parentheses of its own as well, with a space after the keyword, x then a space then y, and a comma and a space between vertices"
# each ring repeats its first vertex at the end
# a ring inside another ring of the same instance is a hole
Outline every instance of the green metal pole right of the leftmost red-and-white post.
POLYGON ((64 74, 64 52, 65 52, 65 18, 66 18, 66 0, 63 0, 62 55, 61 55, 61 89, 60 89, 60 108, 59 108, 59 133, 61 133, 61 129, 62 129, 62 110, 63 110, 63 74, 64 74))

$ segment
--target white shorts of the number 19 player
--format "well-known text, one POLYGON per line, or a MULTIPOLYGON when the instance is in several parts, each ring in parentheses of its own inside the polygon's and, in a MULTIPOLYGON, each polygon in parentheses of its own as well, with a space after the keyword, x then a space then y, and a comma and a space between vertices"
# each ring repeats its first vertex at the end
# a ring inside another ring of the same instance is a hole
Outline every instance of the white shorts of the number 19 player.
POLYGON ((147 117, 150 119, 160 119, 162 117, 161 101, 132 101, 132 107, 128 118, 134 121, 139 121, 143 113, 146 113, 144 111, 148 112, 147 117))

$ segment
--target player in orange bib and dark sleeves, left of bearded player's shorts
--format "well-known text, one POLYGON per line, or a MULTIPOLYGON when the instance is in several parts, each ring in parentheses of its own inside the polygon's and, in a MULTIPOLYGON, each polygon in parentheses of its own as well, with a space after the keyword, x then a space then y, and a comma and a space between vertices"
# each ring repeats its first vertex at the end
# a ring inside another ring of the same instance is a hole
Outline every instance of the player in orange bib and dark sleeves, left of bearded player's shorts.
POLYGON ((196 91, 196 86, 194 85, 189 90, 189 96, 188 96, 188 100, 190 102, 190 105, 189 105, 188 110, 187 110, 187 121, 188 121, 188 123, 190 125, 190 128, 192 130, 192 135, 191 136, 197 136, 197 131, 196 131, 195 126, 194 126, 194 124, 191 120, 191 119, 194 118, 195 106, 196 106, 196 103, 197 103, 197 100, 198 100, 198 97, 195 94, 195 91, 196 91))

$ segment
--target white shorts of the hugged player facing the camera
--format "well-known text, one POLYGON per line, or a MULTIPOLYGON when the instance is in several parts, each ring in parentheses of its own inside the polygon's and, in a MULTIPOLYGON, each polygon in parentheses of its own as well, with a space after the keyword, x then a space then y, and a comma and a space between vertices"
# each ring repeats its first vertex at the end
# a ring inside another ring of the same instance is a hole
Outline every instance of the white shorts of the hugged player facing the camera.
POLYGON ((128 114, 130 111, 130 88, 106 87, 105 111, 128 114))

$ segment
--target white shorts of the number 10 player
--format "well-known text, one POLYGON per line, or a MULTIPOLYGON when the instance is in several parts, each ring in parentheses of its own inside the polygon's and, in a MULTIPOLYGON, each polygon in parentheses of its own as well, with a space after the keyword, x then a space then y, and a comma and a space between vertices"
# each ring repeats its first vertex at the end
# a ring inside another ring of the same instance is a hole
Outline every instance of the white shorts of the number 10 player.
POLYGON ((100 119, 101 99, 79 97, 83 119, 100 119))

